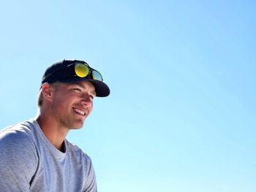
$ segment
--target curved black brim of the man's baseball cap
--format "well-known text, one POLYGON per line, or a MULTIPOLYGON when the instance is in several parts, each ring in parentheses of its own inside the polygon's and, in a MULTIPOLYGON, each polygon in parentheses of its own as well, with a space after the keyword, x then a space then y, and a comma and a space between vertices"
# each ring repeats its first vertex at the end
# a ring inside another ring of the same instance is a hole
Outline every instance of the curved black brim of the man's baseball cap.
POLYGON ((87 78, 72 78, 68 80, 59 80, 59 82, 81 82, 81 81, 87 81, 91 82, 92 85, 94 85, 96 96, 99 97, 105 97, 109 96, 110 94, 110 88, 108 88, 108 85, 105 84, 105 82, 99 81, 99 80, 91 80, 87 78))

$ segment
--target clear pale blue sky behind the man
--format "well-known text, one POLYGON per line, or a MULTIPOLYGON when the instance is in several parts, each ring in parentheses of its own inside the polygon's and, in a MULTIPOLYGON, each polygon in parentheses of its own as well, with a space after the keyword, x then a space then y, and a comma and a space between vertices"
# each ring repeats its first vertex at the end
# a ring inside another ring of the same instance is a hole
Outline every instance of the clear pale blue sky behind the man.
POLYGON ((111 93, 75 142, 99 191, 256 191, 255 1, 1 1, 0 129, 40 80, 87 61, 111 93))

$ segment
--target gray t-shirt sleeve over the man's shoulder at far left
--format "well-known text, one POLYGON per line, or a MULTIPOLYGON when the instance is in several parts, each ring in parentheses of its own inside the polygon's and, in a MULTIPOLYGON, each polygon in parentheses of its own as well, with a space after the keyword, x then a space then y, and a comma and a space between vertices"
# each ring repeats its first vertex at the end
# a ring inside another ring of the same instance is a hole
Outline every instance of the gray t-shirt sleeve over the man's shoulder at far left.
POLYGON ((1 191, 29 191, 37 170, 34 142, 23 131, 0 132, 1 191))

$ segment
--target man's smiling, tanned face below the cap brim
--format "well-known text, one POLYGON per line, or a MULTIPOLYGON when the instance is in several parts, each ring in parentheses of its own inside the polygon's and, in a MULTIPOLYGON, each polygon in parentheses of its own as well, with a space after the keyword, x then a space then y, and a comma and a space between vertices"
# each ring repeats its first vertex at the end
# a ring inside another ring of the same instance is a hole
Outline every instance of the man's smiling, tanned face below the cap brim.
POLYGON ((56 123, 68 129, 82 128, 93 108, 94 85, 91 82, 57 82, 52 93, 50 110, 56 123))

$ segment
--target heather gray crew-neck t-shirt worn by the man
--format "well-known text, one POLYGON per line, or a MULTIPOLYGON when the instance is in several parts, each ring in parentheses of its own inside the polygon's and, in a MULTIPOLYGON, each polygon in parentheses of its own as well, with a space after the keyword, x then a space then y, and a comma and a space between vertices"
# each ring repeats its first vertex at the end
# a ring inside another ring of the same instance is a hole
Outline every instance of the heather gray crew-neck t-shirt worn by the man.
POLYGON ((91 158, 65 139, 54 147, 35 119, 0 131, 0 191, 97 192, 91 158))

